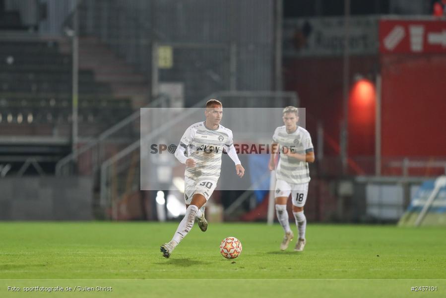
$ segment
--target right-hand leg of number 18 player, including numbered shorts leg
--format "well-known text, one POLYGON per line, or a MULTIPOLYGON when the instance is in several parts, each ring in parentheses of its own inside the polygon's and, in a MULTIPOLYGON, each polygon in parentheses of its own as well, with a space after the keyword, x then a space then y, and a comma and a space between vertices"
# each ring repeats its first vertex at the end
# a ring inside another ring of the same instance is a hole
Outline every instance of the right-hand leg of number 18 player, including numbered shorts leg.
POLYGON ((296 220, 296 226, 299 233, 299 239, 296 243, 295 251, 304 250, 307 240, 305 239, 305 232, 307 229, 307 218, 304 214, 304 206, 307 201, 308 183, 296 184, 294 186, 292 196, 293 215, 296 220))

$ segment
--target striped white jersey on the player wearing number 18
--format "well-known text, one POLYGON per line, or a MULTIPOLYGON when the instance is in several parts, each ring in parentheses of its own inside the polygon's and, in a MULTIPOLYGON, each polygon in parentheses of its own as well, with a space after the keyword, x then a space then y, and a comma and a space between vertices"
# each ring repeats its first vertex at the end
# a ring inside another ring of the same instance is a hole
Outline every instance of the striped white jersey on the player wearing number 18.
POLYGON ((279 144, 280 159, 277 164, 276 178, 284 180, 291 184, 308 183, 310 182, 310 171, 308 169, 308 162, 300 161, 296 158, 283 154, 283 147, 292 148, 293 152, 306 154, 312 152, 313 143, 311 142, 310 133, 300 126, 296 131, 289 134, 286 127, 279 126, 274 131, 272 137, 274 143, 279 144))

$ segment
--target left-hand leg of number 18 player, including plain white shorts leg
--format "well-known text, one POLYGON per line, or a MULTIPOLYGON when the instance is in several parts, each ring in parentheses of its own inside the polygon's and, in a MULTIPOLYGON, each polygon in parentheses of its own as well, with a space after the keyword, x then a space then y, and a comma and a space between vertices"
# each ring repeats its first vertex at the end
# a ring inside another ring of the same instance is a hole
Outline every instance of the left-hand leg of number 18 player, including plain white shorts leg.
POLYGON ((293 240, 294 237, 293 231, 290 228, 288 211, 286 210, 286 203, 288 201, 288 196, 291 193, 291 187, 287 182, 277 180, 274 193, 277 220, 279 221, 280 225, 282 225, 285 232, 282 243, 280 244, 280 249, 285 250, 288 248, 290 241, 293 240))

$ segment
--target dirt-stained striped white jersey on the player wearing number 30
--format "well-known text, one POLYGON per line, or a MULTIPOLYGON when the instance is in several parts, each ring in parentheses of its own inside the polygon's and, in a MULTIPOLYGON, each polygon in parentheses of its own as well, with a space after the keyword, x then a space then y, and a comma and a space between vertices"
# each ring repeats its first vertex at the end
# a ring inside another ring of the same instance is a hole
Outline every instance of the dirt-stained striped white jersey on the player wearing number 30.
POLYGON ((208 129, 203 122, 192 124, 181 138, 180 145, 188 151, 188 157, 196 162, 195 167, 186 167, 185 176, 193 181, 220 177, 223 146, 228 151, 232 145, 232 131, 219 125, 216 130, 208 129))

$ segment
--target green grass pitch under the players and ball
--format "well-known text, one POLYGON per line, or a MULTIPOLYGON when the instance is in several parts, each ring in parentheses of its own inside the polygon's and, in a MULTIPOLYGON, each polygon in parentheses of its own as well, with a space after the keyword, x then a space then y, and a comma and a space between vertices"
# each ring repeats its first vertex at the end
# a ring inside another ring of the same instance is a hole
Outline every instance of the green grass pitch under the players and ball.
POLYGON ((296 239, 288 250, 279 250, 283 231, 278 224, 211 223, 206 232, 195 224, 165 259, 159 246, 176 227, 0 223, 0 297, 44 297, 23 287, 58 285, 73 292, 49 295, 182 297, 191 292, 193 297, 224 297, 233 289, 242 297, 407 297, 420 295, 411 292, 412 286, 437 286, 429 295, 446 296, 446 230, 441 227, 309 223, 305 251, 294 252, 296 239), (228 236, 243 244, 235 260, 219 252, 228 236), (74 289, 97 286, 113 291, 74 289))

